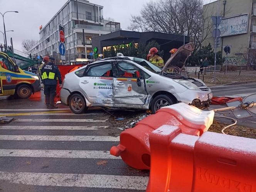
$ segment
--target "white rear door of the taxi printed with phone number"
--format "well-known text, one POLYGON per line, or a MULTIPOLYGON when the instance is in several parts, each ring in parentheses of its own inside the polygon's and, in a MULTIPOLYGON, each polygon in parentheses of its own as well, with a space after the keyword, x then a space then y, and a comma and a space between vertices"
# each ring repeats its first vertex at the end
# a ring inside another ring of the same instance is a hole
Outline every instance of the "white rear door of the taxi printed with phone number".
POLYGON ((79 86, 90 103, 113 103, 113 70, 110 62, 90 66, 79 86))

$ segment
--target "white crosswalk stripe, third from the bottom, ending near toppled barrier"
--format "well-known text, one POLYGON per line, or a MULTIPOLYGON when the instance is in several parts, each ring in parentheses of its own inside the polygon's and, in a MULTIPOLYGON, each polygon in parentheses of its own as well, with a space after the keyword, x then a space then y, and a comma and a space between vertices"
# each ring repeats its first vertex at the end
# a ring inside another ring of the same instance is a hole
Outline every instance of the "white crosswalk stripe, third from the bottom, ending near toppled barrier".
POLYGON ((119 141, 113 136, 69 136, 69 135, 0 135, 0 140, 23 141, 119 141))

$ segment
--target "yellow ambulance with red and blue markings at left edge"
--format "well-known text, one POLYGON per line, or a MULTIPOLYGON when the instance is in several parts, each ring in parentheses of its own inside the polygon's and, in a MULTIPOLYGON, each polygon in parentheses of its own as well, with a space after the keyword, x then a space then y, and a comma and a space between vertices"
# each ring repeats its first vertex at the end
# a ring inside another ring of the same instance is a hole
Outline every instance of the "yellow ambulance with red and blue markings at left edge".
POLYGON ((36 74, 23 71, 7 54, 0 52, 0 96, 15 95, 25 99, 40 90, 36 74))

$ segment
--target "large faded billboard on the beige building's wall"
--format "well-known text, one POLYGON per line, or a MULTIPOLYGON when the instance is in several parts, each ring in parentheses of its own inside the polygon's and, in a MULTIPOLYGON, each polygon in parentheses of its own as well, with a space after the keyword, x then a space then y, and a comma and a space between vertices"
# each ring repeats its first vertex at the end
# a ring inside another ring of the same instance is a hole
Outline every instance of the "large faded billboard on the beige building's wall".
POLYGON ((229 35, 238 35, 247 33, 248 29, 248 14, 228 17, 221 21, 219 30, 221 37, 229 35))

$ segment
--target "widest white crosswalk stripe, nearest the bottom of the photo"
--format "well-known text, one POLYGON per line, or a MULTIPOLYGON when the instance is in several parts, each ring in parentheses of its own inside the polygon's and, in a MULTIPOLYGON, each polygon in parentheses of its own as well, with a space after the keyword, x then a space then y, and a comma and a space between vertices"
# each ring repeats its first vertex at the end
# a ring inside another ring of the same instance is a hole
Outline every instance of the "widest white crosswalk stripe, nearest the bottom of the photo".
POLYGON ((72 173, 28 173, 0 172, 1 180, 13 184, 59 186, 59 187, 94 187, 123 190, 146 190, 148 177, 121 175, 93 175, 72 173))

